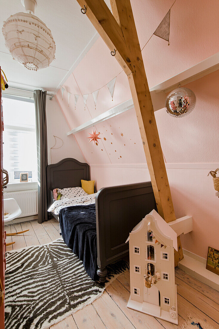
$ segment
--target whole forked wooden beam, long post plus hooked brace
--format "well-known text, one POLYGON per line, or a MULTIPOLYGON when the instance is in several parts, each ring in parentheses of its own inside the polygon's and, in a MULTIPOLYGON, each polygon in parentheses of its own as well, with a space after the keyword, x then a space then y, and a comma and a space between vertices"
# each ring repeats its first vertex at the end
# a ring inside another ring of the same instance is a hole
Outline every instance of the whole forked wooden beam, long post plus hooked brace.
MULTIPOLYGON (((85 5, 88 18, 109 49, 112 45, 116 49, 115 57, 128 76, 158 213, 166 222, 173 221, 176 216, 130 0, 110 0, 114 16, 104 0, 77 1, 85 5)), ((175 266, 182 258, 178 237, 175 266)))

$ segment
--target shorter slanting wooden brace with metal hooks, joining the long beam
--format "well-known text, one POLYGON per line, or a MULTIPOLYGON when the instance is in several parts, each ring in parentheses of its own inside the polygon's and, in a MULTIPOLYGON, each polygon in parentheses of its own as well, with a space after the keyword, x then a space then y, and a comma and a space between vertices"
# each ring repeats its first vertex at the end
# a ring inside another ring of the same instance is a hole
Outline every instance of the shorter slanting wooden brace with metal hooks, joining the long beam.
POLYGON ((116 50, 115 58, 125 73, 131 73, 130 65, 126 62, 127 48, 122 30, 102 0, 77 0, 80 6, 86 8, 86 15, 107 44, 110 51, 116 50))

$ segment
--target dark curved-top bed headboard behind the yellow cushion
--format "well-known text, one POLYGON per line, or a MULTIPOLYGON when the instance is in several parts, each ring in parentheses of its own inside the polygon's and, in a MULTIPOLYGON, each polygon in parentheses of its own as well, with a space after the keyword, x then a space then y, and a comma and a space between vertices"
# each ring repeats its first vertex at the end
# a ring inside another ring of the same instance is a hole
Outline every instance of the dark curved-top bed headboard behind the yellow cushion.
POLYGON ((49 190, 81 187, 81 179, 85 181, 90 180, 89 164, 72 158, 63 159, 57 164, 49 164, 46 168, 47 200, 49 198, 49 190))

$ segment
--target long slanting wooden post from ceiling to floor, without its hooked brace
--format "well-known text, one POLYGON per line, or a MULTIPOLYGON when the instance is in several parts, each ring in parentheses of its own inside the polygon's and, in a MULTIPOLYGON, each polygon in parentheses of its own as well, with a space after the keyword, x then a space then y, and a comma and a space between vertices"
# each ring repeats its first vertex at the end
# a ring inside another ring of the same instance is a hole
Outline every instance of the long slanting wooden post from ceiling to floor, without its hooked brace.
MULTIPOLYGON (((166 222, 170 222, 176 220, 176 216, 131 3, 130 0, 110 0, 110 4, 112 13, 122 29, 127 45, 128 58, 132 67, 132 73, 128 75, 129 85, 158 213, 166 222)), ((178 237, 178 252, 175 253, 175 265, 182 258, 182 246, 180 237, 178 237)))

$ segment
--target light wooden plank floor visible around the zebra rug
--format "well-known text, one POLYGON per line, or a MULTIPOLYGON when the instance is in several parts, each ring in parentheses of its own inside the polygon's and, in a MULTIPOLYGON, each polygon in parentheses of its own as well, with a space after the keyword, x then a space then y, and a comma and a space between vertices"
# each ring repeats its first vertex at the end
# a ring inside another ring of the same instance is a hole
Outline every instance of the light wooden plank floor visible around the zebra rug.
MULTIPOLYGON (((39 224, 37 220, 15 224, 17 231, 28 232, 17 236, 7 237, 7 251, 26 246, 39 245, 60 238, 59 222, 52 218, 39 224)), ((7 233, 15 232, 13 228, 5 226, 7 233)), ((130 296, 130 273, 120 275, 109 285, 102 296, 82 310, 77 311, 66 319, 54 324, 50 329, 175 329, 181 328, 182 323, 191 314, 219 329, 219 292, 192 278, 179 268, 175 269, 178 300, 178 321, 174 325, 153 316, 127 308, 130 296), (216 322, 217 321, 217 322, 216 322)))

